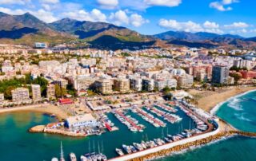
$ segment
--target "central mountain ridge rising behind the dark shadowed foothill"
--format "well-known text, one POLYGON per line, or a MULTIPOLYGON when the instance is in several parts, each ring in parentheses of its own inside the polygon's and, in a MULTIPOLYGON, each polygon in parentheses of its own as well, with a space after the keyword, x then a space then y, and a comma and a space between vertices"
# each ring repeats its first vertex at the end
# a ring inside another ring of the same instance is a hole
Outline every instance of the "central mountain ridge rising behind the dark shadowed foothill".
POLYGON ((114 26, 105 22, 88 22, 77 21, 70 18, 64 18, 57 22, 50 24, 54 29, 71 33, 80 39, 93 41, 102 36, 116 37, 121 41, 152 41, 152 37, 146 37, 133 30, 127 29, 122 26, 114 26))

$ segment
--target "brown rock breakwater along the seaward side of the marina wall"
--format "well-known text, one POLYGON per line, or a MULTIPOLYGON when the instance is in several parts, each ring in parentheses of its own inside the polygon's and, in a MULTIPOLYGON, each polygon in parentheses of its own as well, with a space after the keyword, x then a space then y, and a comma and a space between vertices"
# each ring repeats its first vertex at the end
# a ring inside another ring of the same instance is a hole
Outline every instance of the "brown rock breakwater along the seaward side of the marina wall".
POLYGON ((252 133, 252 132, 237 132, 237 131, 220 132, 216 135, 209 136, 205 139, 200 139, 200 140, 193 141, 193 142, 190 142, 190 143, 185 143, 185 144, 182 144, 182 145, 171 147, 170 149, 154 152, 154 153, 151 153, 149 155, 143 155, 143 156, 135 158, 135 159, 130 159, 130 161, 144 161, 144 160, 157 159, 157 158, 164 157, 166 155, 174 154, 175 152, 187 150, 190 147, 200 147, 200 146, 205 145, 207 143, 212 143, 214 141, 229 138, 229 137, 232 137, 234 135, 242 135, 242 136, 247 136, 247 137, 256 137, 256 133, 252 133))

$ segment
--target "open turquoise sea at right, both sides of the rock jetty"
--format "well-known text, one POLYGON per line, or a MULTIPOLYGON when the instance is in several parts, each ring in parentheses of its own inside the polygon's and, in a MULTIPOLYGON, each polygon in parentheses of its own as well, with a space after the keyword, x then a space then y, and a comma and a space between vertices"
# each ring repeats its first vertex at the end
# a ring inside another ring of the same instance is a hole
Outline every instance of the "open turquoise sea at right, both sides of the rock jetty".
MULTIPOLYGON (((231 98, 222 104, 216 115, 242 131, 256 132, 256 92, 231 98)), ((255 161, 256 139, 236 136, 180 155, 158 159, 173 160, 255 161)))

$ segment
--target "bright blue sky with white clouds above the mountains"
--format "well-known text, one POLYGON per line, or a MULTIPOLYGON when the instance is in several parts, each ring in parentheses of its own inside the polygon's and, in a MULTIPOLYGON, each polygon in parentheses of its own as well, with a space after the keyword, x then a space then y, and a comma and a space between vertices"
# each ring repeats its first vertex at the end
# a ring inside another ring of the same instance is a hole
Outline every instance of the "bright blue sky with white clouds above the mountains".
POLYGON ((255 0, 0 0, 0 12, 109 22, 142 34, 168 30, 256 36, 255 0))

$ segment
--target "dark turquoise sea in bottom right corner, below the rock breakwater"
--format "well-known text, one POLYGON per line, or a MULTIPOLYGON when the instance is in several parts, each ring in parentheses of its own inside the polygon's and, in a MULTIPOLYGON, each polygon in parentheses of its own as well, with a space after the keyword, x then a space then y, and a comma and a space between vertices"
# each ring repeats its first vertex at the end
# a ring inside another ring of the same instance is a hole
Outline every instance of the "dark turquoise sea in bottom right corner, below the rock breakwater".
POLYGON ((234 137, 218 143, 173 155, 159 161, 254 161, 256 139, 234 137))

